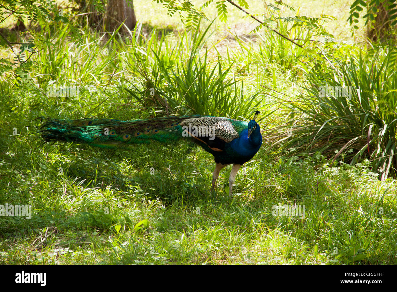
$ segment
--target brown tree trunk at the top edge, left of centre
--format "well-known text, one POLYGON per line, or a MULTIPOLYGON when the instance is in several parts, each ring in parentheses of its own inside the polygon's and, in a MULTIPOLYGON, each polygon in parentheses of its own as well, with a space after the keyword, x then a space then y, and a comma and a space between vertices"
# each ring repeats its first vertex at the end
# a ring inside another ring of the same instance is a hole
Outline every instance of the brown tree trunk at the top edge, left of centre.
MULTIPOLYGON (((137 19, 135 18, 132 0, 109 0, 108 6, 106 6, 105 21, 106 30, 110 32, 116 30, 123 21, 128 29, 134 29, 137 19)), ((120 31, 126 32, 127 29, 124 25, 120 28, 120 31)))

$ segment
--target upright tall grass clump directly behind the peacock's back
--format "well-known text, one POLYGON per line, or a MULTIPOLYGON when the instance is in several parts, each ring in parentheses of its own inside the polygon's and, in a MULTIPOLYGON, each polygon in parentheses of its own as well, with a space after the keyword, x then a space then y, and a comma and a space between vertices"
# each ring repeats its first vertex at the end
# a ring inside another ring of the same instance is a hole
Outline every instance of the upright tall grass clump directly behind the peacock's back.
MULTIPOLYGON (((198 26, 199 27, 199 26, 198 26)), ((184 31, 175 44, 153 38, 136 48, 131 68, 138 75, 127 81, 129 94, 146 107, 165 107, 174 113, 247 118, 258 108, 258 93, 244 91, 244 82, 231 73, 234 61, 210 60, 204 48, 209 28, 184 31)))

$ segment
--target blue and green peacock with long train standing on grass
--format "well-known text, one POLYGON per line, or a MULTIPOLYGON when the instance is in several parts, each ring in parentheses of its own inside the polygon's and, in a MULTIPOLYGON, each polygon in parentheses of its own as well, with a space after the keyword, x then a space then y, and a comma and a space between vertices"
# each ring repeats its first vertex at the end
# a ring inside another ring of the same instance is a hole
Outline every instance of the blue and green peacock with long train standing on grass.
POLYGON ((123 148, 129 144, 150 144, 154 141, 172 143, 192 139, 215 160, 212 190, 219 172, 233 164, 229 176, 229 195, 240 167, 258 152, 262 135, 255 118, 248 123, 215 116, 166 116, 147 120, 113 120, 84 118, 56 120, 41 118, 39 133, 45 142, 65 141, 85 143, 103 148, 123 148), (44 120, 44 122, 43 122, 44 120))

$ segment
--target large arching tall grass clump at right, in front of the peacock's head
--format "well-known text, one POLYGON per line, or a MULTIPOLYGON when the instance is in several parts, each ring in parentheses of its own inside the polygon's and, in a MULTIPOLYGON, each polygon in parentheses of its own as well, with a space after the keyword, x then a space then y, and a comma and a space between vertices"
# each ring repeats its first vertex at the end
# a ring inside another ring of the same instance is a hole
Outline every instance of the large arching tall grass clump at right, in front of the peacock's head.
MULTIPOLYGON (((289 155, 317 151, 351 165, 369 159, 380 179, 396 178, 396 50, 350 56, 332 69, 316 65, 307 74, 306 93, 281 101, 289 119, 272 146, 289 155), (282 139, 279 139, 282 138, 282 139)), ((270 135, 269 135, 270 138, 270 135)))

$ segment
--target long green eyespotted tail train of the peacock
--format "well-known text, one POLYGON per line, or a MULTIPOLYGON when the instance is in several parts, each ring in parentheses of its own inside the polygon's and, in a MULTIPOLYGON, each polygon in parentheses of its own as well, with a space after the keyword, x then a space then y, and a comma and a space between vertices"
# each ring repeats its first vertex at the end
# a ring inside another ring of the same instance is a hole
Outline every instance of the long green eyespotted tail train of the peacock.
POLYGON ((181 122, 195 116, 171 116, 148 120, 42 119, 39 133, 44 142, 67 141, 103 148, 119 148, 128 144, 150 144, 152 141, 172 143, 183 137, 181 122))

